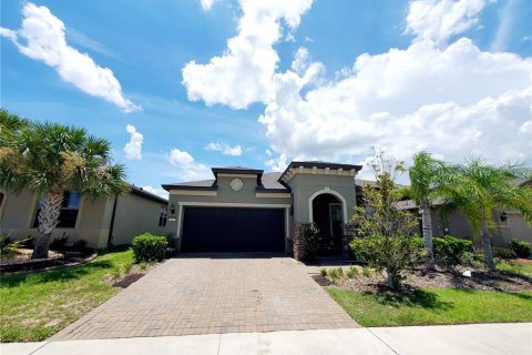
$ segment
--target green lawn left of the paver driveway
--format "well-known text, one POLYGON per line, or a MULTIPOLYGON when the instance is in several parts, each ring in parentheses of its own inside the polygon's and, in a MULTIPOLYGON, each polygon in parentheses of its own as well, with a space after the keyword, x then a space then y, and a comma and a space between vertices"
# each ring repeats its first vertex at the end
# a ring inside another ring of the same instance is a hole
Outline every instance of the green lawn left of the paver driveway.
POLYGON ((120 288, 102 277, 131 263, 131 251, 114 252, 73 267, 0 277, 2 342, 42 341, 108 301, 120 288))

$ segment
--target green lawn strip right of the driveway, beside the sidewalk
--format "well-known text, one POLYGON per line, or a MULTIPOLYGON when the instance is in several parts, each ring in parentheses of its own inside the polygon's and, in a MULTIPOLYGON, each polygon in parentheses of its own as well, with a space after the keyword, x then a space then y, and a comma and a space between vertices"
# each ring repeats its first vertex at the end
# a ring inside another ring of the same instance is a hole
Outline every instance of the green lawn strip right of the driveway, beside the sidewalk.
POLYGON ((532 321, 532 292, 430 288, 391 296, 326 290, 362 326, 532 321))

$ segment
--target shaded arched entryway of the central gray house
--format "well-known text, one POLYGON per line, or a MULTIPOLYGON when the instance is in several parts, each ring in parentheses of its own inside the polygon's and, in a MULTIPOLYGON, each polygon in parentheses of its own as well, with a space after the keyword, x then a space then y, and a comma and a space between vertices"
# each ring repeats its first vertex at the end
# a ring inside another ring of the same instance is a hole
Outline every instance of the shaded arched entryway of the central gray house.
POLYGON ((310 222, 321 233, 320 255, 336 256, 341 254, 341 225, 345 223, 346 202, 344 197, 330 191, 315 194, 309 202, 310 222))

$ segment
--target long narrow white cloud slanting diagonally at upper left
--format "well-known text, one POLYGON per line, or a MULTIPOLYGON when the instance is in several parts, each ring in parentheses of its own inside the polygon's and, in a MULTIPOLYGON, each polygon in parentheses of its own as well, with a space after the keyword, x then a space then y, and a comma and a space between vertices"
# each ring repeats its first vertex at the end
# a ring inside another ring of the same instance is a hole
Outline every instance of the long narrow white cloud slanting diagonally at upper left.
POLYGON ((99 67, 91 57, 66 43, 64 23, 47 7, 28 2, 22 13, 24 19, 20 30, 0 31, 1 36, 11 39, 21 53, 54 68, 64 81, 92 97, 115 104, 124 112, 141 109, 124 98, 111 69, 99 67), (24 40, 25 44, 19 40, 24 40))

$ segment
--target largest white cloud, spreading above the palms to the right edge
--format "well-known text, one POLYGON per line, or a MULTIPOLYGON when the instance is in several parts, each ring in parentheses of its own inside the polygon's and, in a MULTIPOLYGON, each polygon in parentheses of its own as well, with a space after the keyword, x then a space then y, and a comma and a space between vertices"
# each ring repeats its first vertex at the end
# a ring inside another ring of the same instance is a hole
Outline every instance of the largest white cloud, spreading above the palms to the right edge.
POLYGON ((308 70, 274 77, 276 97, 259 122, 277 153, 359 161, 375 145, 400 159, 420 150, 452 161, 531 158, 531 140, 518 138, 531 120, 530 59, 481 52, 468 39, 446 49, 416 41, 362 54, 349 75, 301 97, 308 70))

